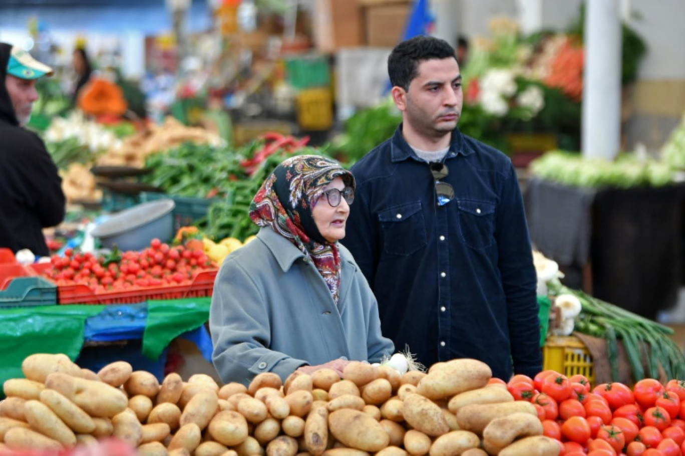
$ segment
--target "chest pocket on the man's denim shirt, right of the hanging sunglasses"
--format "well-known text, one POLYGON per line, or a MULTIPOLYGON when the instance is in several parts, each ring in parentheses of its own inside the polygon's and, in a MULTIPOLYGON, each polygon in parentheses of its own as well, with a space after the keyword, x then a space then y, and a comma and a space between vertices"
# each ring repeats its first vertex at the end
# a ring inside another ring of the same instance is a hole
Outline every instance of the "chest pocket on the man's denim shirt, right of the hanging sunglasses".
POLYGON ((459 230, 462 241, 473 249, 484 249, 495 243, 494 202, 483 200, 457 200, 459 230))

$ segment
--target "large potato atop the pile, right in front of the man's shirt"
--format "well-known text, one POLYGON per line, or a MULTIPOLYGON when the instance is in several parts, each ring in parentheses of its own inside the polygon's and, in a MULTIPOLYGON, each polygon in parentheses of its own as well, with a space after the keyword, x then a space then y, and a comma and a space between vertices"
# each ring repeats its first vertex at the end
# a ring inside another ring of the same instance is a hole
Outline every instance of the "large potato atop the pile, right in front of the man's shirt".
POLYGON ((453 359, 427 374, 417 392, 429 399, 444 399, 471 389, 482 388, 493 377, 490 367, 477 359, 453 359))

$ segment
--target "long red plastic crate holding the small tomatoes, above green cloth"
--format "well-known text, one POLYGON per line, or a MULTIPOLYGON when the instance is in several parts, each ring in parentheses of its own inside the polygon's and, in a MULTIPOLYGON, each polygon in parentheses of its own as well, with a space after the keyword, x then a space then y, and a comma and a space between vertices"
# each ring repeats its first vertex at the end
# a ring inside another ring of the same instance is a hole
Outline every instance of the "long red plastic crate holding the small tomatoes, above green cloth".
POLYGON ((126 291, 95 293, 87 285, 60 285, 58 304, 134 304, 145 300, 169 300, 212 296, 218 269, 197 274, 190 285, 167 285, 126 291))

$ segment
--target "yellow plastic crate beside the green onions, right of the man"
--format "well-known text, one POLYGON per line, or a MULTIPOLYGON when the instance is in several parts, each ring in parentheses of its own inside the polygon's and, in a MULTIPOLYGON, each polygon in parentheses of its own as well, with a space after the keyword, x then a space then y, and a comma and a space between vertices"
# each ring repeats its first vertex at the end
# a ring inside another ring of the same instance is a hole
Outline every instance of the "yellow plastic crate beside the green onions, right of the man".
POLYGON ((575 336, 547 337, 543 346, 543 370, 556 370, 565 376, 582 374, 595 385, 593 357, 585 344, 575 336))

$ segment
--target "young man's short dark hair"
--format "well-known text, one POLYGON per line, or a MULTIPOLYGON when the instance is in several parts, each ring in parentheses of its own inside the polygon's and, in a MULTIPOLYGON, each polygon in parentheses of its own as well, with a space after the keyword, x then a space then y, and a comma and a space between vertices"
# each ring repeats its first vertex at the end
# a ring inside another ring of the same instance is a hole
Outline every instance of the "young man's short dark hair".
POLYGON ((415 36, 399 43, 388 57, 390 84, 409 90, 409 84, 419 75, 419 65, 425 60, 456 60, 454 48, 445 40, 433 36, 415 36))

